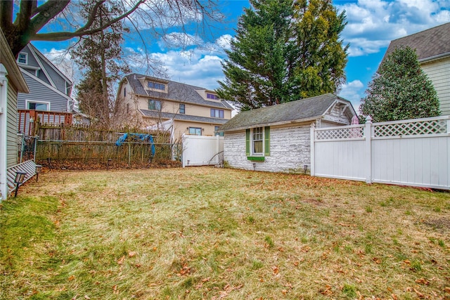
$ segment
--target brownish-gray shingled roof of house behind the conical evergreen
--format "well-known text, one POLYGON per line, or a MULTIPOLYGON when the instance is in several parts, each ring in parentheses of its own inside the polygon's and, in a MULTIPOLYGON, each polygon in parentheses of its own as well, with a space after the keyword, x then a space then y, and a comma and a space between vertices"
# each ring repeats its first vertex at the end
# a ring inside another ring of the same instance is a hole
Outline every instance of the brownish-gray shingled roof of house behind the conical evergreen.
MULTIPOLYGON (((416 49, 418 60, 450 55, 450 22, 391 41, 385 58, 400 46, 416 49)), ((385 59, 383 58, 383 60, 385 59)))

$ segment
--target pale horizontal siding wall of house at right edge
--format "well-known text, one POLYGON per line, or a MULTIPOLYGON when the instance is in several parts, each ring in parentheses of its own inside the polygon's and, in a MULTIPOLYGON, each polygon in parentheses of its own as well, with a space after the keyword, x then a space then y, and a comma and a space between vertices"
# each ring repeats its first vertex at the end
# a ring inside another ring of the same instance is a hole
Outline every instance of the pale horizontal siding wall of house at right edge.
POLYGON ((450 58, 425 62, 421 67, 435 86, 441 115, 450 115, 450 58))

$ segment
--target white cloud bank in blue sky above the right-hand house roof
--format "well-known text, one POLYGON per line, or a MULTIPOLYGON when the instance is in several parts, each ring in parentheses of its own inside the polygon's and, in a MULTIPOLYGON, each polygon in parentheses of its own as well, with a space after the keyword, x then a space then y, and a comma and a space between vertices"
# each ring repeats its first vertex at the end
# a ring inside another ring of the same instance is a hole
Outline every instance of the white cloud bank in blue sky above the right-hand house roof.
POLYGON ((450 1, 359 0, 336 6, 347 15, 342 32, 349 56, 377 53, 390 41, 450 22, 450 1))

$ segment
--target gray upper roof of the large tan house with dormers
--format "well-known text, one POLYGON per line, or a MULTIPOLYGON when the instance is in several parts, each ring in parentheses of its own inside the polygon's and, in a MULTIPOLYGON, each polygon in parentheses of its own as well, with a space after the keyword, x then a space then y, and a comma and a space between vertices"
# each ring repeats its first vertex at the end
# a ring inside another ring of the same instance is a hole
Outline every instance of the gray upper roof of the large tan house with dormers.
POLYGON ((227 110, 233 110, 233 107, 229 105, 229 103, 226 103, 225 100, 221 100, 220 102, 217 101, 209 101, 203 99, 202 96, 200 96, 199 93, 196 92, 196 90, 200 91, 209 91, 208 89, 202 88, 200 86, 191 86, 189 84, 181 84, 176 81, 170 81, 165 79, 158 79, 155 77, 149 77, 143 74, 129 74, 126 76, 131 88, 133 89, 134 93, 142 96, 148 96, 153 98, 162 98, 167 100, 175 100, 180 101, 182 103, 194 103, 198 105, 203 106, 210 106, 210 107, 217 107, 221 109, 227 109, 227 110), (145 89, 144 86, 142 86, 141 81, 139 81, 139 78, 146 77, 148 79, 155 79, 156 81, 164 81, 167 84, 167 93, 162 93, 158 91, 150 91, 148 89, 145 89))

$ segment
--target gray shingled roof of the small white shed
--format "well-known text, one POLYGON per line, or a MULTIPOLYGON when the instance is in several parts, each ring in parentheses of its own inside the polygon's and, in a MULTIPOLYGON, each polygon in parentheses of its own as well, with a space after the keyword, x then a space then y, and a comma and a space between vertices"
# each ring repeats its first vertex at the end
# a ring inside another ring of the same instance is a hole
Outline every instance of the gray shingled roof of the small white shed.
POLYGON ((283 124, 319 119, 335 103, 335 100, 345 101, 352 105, 349 100, 326 93, 321 96, 240 112, 224 126, 221 126, 220 130, 231 131, 274 123, 283 124))

